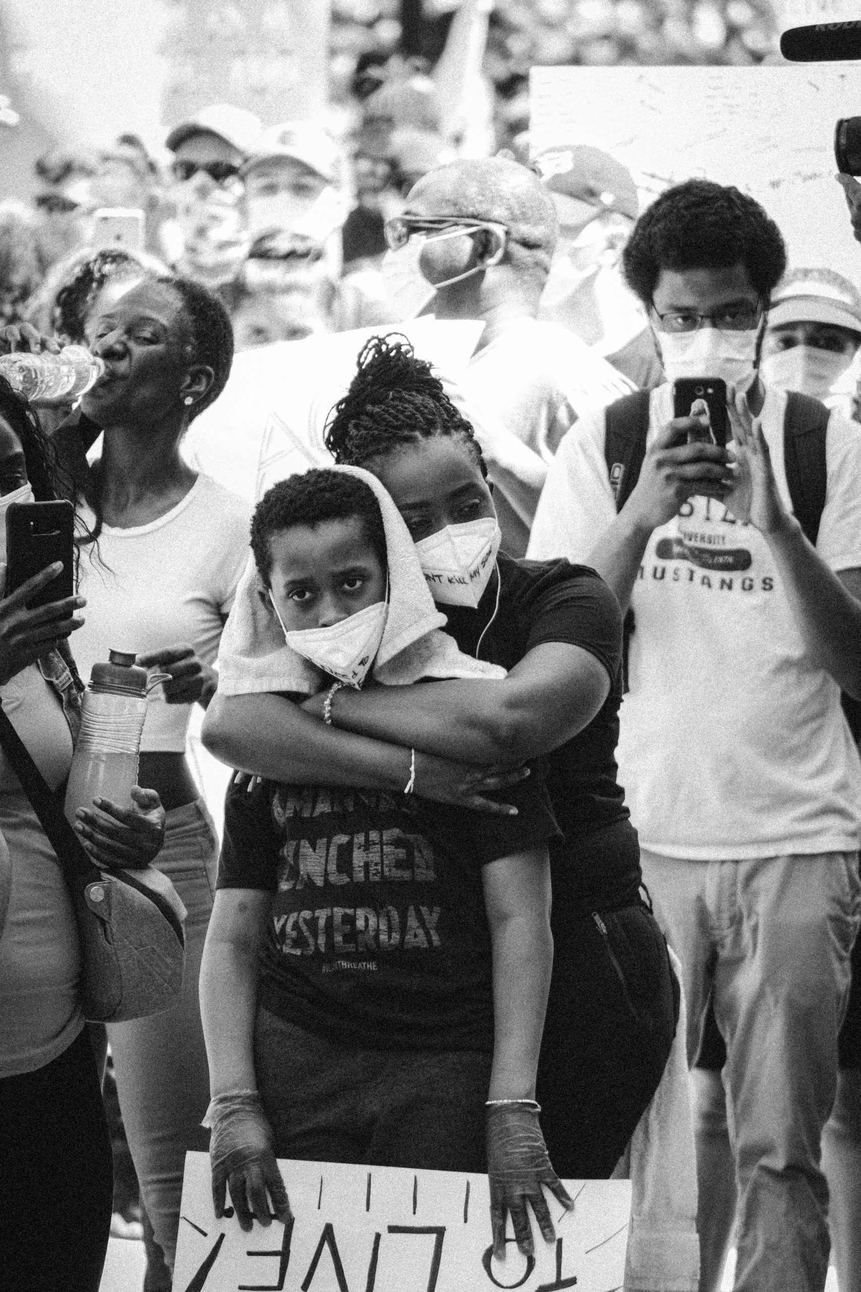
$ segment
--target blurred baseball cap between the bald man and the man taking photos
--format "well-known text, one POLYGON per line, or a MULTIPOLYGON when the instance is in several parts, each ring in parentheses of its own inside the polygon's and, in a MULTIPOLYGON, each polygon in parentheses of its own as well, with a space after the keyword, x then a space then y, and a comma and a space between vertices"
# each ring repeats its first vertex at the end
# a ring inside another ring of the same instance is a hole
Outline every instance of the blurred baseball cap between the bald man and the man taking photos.
POLYGON ((640 213, 630 172, 602 149, 586 143, 546 149, 534 165, 552 196, 563 227, 589 224, 596 211, 616 211, 630 220, 640 213))

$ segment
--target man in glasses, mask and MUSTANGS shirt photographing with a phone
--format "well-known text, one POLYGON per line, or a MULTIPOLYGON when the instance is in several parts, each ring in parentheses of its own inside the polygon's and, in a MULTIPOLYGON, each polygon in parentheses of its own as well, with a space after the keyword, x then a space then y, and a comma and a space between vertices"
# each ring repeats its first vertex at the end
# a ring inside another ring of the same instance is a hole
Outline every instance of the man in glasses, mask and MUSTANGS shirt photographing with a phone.
MULTIPOLYGON (((710 1000, 727 1047, 745 1292, 825 1286, 821 1132, 861 911, 861 761, 840 709, 840 689, 861 695, 861 428, 762 380, 785 265, 737 189, 689 181, 640 217, 623 267, 667 382, 565 437, 529 548, 587 561, 629 610, 620 775, 683 963, 688 1061, 710 1000), (727 382, 729 452, 673 416, 680 377, 727 382)), ((724 1253, 704 1160, 705 1292, 724 1253)))

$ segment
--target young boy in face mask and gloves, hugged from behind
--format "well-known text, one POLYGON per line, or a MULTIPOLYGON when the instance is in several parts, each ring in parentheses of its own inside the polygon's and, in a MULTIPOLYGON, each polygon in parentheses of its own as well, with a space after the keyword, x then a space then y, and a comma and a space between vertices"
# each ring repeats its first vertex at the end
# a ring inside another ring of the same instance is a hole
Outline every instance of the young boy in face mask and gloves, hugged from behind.
MULTIPOLYGON (((361 685, 389 616, 403 522, 394 504, 383 522, 363 475, 283 481, 252 525, 266 603, 323 685, 361 685)), ((569 1202, 534 1103, 558 837, 543 787, 507 789, 506 817, 430 802, 403 749, 391 793, 338 784, 307 722, 303 784, 227 796, 201 968, 216 1211, 228 1182, 244 1227, 267 1222, 267 1190, 284 1218, 276 1156, 488 1169, 496 1253, 507 1209, 529 1252, 527 1200, 547 1239, 541 1186, 569 1202)))

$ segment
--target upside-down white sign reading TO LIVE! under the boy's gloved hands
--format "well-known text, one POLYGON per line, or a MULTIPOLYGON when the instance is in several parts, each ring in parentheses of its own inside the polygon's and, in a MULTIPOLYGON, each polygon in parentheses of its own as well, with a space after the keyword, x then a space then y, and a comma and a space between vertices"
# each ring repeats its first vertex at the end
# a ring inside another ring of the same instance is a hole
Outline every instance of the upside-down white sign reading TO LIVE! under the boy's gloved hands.
POLYGON ((616 1292, 625 1271, 631 1186, 567 1182, 573 1212, 551 1202, 556 1242, 533 1261, 514 1240, 491 1255, 487 1176, 279 1163, 294 1220, 245 1234, 216 1220, 209 1156, 190 1152, 174 1292, 616 1292))

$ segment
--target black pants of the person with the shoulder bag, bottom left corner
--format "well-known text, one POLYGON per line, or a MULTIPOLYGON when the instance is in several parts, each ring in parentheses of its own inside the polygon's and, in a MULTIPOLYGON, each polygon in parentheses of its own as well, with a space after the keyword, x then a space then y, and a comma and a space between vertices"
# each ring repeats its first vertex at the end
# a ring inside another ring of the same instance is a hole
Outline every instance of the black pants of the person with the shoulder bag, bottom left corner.
POLYGON ((1 1292, 98 1292, 112 1190, 84 1030, 52 1063, 0 1080, 1 1292))

